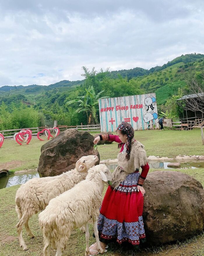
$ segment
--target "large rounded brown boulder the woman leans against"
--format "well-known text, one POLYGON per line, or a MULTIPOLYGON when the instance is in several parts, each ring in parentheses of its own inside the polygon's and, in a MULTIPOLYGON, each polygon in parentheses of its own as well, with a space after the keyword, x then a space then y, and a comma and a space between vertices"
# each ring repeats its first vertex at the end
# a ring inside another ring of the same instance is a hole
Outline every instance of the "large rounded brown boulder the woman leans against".
POLYGON ((148 174, 143 187, 148 243, 159 245, 202 232, 204 190, 199 181, 177 171, 154 171, 148 174))

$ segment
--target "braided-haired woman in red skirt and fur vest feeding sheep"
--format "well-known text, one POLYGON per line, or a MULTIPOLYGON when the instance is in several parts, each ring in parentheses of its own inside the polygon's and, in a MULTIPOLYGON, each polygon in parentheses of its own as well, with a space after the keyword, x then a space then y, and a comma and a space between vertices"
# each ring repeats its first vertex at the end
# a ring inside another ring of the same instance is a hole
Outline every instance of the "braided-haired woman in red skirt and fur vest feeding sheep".
MULTIPOLYGON (((132 126, 125 122, 118 126, 117 135, 100 135, 94 144, 100 140, 115 141, 121 147, 118 167, 112 174, 113 182, 108 186, 98 219, 101 247, 107 248, 112 240, 119 244, 127 241, 139 247, 140 241, 145 242, 142 185, 149 171, 144 146, 134 139, 132 126)), ((96 243, 91 245, 90 254, 98 253, 96 243)))

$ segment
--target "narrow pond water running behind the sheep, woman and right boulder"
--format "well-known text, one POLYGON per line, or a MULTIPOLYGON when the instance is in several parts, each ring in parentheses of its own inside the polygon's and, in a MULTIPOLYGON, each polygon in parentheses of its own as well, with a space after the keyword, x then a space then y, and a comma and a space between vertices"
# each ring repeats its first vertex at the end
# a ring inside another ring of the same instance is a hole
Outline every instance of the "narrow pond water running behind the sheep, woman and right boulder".
MULTIPOLYGON (((171 161, 171 163, 176 161, 171 161)), ((150 161, 149 166, 153 169, 175 169, 173 167, 167 167, 170 162, 156 162, 150 161)), ((176 169, 196 169, 196 168, 204 168, 204 161, 195 161, 195 162, 180 162, 181 166, 176 169)), ((115 170, 117 164, 107 164, 110 170, 115 170)), ((0 189, 8 188, 14 185, 20 185, 26 183, 28 180, 32 178, 39 178, 38 172, 24 173, 24 174, 11 174, 0 177, 0 189)))

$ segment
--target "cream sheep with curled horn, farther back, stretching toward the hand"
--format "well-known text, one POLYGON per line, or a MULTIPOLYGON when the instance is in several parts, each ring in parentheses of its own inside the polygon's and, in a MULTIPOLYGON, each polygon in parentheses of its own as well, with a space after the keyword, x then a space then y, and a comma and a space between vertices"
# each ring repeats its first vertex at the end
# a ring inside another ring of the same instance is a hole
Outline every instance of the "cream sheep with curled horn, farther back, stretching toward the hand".
POLYGON ((31 238, 34 238, 28 225, 29 218, 33 214, 44 210, 52 198, 69 190, 74 187, 75 184, 84 180, 87 176, 87 170, 94 166, 98 160, 99 158, 94 155, 84 156, 76 162, 75 169, 71 171, 67 171, 54 177, 33 178, 21 185, 17 190, 15 203, 19 219, 19 222, 16 225, 17 233, 20 247, 22 247, 23 250, 28 250, 22 237, 22 228, 24 225, 27 234, 31 238))

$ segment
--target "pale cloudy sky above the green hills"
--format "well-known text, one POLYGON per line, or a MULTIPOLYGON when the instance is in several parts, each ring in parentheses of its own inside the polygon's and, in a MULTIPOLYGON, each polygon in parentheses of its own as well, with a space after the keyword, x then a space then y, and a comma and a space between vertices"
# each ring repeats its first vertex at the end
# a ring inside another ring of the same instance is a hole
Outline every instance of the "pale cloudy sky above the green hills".
POLYGON ((0 0, 0 87, 204 54, 203 0, 0 0))

